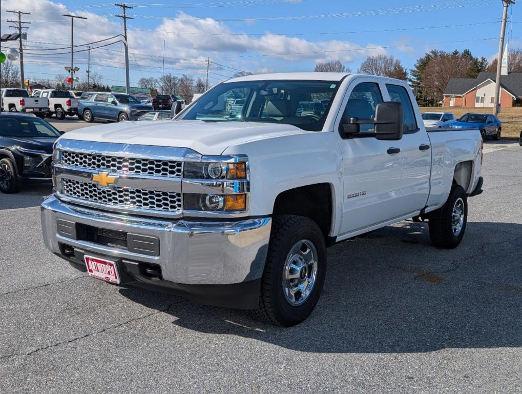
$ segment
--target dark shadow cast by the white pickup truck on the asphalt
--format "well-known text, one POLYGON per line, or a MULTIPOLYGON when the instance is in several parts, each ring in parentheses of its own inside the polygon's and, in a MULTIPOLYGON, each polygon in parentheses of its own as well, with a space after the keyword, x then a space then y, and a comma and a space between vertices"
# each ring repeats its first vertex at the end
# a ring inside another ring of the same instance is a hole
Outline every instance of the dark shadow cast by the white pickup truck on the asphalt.
MULTIPOLYGON (((173 325, 188 330, 302 352, 518 347, 521 240, 520 224, 468 223, 460 247, 441 250, 431 246, 426 224, 401 222, 328 250, 323 295, 312 316, 298 326, 276 328, 244 311, 189 302, 165 312, 174 317, 173 325)), ((164 307, 164 298, 147 297, 144 291, 120 292, 149 308, 164 307)))

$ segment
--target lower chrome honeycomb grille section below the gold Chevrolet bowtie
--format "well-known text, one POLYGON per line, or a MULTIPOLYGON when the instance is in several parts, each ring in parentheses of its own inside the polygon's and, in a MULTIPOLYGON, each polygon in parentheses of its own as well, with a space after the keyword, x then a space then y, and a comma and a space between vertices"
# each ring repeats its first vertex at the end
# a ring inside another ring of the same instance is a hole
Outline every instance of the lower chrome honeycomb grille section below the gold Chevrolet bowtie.
POLYGON ((130 188, 100 188, 97 184, 62 179, 61 193, 79 200, 152 211, 181 211, 181 193, 130 188))

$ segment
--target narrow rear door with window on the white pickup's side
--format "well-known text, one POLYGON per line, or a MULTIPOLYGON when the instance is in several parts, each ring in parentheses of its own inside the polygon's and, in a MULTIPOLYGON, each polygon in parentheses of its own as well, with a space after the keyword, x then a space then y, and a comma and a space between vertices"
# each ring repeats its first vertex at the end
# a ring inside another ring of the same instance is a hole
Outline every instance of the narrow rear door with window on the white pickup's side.
POLYGON ((401 140, 401 189, 397 203, 402 211, 421 210, 430 193, 431 144, 422 120, 414 110, 411 89, 402 85, 386 84, 390 101, 402 104, 404 132, 401 140))

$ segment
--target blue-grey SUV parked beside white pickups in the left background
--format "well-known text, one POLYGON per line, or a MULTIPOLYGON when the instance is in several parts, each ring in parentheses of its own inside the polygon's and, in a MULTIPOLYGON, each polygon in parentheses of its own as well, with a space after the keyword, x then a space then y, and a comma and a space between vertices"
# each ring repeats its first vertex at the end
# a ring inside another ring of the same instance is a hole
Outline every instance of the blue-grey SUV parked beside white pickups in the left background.
POLYGON ((131 95, 93 92, 81 96, 78 103, 78 118, 86 122, 94 119, 124 122, 137 120, 141 115, 152 111, 152 106, 143 104, 131 95))

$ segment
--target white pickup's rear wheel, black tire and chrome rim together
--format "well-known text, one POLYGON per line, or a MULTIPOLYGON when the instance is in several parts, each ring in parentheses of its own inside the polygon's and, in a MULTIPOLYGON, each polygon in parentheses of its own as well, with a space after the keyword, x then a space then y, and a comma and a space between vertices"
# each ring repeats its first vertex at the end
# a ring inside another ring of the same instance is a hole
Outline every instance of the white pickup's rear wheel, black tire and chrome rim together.
POLYGON ((437 248, 454 249, 460 245, 468 222, 468 200, 461 186, 454 185, 448 200, 430 214, 430 238, 437 248))

